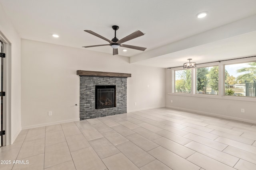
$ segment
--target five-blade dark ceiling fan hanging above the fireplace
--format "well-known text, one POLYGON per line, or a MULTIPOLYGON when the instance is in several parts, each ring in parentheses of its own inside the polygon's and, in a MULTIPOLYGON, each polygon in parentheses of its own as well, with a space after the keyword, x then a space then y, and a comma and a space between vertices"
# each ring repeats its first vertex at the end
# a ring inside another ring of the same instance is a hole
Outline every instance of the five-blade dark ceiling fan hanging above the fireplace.
POLYGON ((118 30, 119 27, 116 26, 116 25, 113 25, 112 29, 115 30, 115 37, 112 40, 106 39, 105 37, 102 37, 101 35, 98 35, 97 33, 93 32, 91 30, 84 30, 85 32, 88 32, 92 35, 95 35, 96 37, 99 37, 99 38, 104 39, 104 40, 109 42, 109 44, 90 45, 90 46, 84 46, 84 48, 110 45, 113 48, 113 55, 118 54, 118 47, 126 47, 126 48, 136 49, 136 50, 140 50, 140 51, 145 51, 147 49, 147 48, 144 48, 144 47, 122 44, 126 41, 129 41, 131 39, 134 39, 134 38, 137 38, 137 37, 140 37, 140 36, 144 35, 144 33, 142 33, 141 31, 139 31, 139 30, 135 31, 134 33, 131 33, 130 35, 127 35, 126 37, 119 40, 118 38, 116 38, 116 30, 118 30))

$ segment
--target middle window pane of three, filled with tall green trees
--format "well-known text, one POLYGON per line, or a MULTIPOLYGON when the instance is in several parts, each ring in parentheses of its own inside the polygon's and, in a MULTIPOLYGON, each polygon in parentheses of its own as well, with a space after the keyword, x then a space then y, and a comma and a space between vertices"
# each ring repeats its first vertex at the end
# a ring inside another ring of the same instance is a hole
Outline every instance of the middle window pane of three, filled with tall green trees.
POLYGON ((218 95, 218 66, 196 68, 196 93, 218 95))

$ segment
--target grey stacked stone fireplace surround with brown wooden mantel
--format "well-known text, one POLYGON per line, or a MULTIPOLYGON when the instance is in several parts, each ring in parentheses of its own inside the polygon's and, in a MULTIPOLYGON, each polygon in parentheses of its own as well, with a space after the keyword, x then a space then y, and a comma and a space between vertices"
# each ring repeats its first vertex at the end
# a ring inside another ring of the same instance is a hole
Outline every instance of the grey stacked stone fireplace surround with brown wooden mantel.
POLYGON ((127 112, 127 77, 131 74, 78 70, 80 120, 127 112))

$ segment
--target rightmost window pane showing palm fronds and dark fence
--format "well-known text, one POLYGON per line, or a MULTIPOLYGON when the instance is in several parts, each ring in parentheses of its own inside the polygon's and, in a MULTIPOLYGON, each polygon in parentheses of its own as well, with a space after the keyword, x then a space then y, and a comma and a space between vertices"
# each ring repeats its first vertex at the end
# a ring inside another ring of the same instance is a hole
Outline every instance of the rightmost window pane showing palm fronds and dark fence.
POLYGON ((256 62, 225 65, 225 95, 256 97, 256 62))

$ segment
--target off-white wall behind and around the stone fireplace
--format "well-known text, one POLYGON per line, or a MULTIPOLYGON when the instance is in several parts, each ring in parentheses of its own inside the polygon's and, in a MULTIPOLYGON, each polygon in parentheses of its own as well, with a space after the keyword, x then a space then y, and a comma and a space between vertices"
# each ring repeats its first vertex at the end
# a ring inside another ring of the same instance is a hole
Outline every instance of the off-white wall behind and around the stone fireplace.
POLYGON ((163 68, 130 64, 128 57, 26 39, 22 39, 21 54, 22 129, 79 120, 76 70, 131 73, 128 112, 165 106, 163 68))

